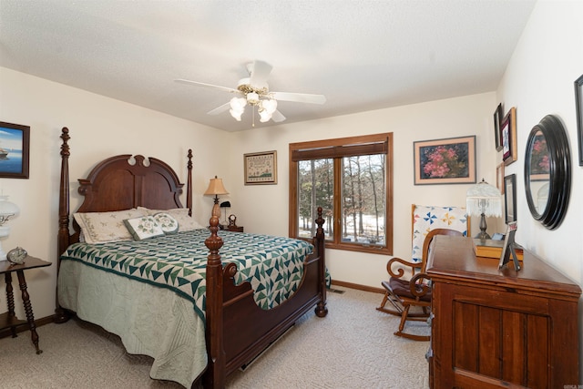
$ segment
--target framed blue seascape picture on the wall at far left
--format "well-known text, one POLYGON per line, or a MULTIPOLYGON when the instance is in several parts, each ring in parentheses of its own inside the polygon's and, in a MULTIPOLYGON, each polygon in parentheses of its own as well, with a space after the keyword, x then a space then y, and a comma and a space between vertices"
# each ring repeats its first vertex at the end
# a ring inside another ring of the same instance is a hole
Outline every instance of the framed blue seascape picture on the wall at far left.
POLYGON ((0 121, 0 178, 28 179, 30 127, 0 121))

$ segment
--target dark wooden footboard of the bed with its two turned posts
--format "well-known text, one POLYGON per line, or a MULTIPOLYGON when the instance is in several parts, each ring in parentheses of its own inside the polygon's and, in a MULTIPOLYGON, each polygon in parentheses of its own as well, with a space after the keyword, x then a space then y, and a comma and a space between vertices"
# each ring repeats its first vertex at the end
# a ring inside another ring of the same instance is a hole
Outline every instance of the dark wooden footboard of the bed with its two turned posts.
POLYGON ((210 237, 205 244, 210 250, 207 262, 206 332, 209 364, 204 374, 204 386, 222 388, 225 377, 251 362, 271 343, 285 333, 305 312, 315 306, 315 313, 324 317, 326 280, 322 207, 318 208, 314 252, 304 261, 302 284, 285 302, 271 310, 262 310, 253 299, 250 282, 235 285, 237 266, 224 268, 220 262, 222 239, 217 234, 219 219, 210 219, 210 237))

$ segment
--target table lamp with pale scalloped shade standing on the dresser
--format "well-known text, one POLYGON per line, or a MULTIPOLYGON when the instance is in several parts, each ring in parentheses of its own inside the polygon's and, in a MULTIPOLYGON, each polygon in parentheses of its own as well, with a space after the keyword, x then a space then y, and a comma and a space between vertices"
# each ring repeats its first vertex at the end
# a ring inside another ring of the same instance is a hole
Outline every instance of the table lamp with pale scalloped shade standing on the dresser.
POLYGON ((490 239, 486 232, 486 216, 502 216, 502 200, 500 190, 488 184, 484 179, 472 188, 467 189, 465 203, 469 215, 480 215, 480 232, 476 238, 490 239))

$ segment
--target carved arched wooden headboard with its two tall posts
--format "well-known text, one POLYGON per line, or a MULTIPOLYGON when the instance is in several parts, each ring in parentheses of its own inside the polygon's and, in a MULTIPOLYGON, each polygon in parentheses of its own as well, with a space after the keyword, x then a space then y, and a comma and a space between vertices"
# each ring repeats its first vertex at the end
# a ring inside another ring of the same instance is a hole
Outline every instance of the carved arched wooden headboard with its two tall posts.
MULTIPOLYGON (((69 233, 68 129, 61 137, 61 180, 59 186, 58 255, 79 240, 79 227, 73 222, 69 233)), ((192 150, 188 154, 187 207, 192 212, 192 150)), ((79 179, 79 193, 84 196, 77 212, 105 212, 146 207, 152 210, 182 208, 179 177, 165 162, 141 155, 118 155, 104 159, 91 170, 87 179, 79 179)))

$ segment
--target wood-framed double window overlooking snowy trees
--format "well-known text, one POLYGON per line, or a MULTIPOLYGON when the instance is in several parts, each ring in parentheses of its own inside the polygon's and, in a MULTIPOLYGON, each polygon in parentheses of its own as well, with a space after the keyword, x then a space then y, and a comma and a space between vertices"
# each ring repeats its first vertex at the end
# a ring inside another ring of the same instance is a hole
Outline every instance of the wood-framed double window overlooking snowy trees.
POLYGON ((290 144, 290 236, 326 247, 393 254, 393 134, 290 144))

